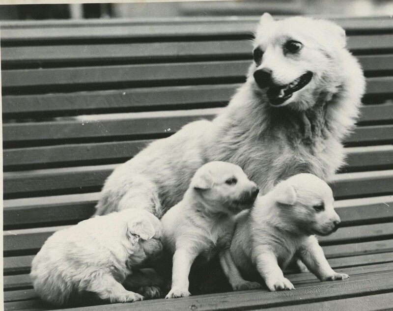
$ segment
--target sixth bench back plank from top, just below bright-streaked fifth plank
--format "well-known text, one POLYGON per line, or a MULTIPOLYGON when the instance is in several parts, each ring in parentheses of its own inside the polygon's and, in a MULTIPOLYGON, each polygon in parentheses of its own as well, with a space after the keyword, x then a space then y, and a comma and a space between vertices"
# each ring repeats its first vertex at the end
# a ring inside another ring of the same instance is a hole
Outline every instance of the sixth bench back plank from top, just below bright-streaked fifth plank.
MULTIPOLYGON (((34 166, 35 168, 95 165, 105 162, 122 163, 134 157, 148 143, 143 141, 115 141, 61 144, 43 147, 3 149, 3 167, 34 166)), ((393 165, 393 146, 348 147, 344 172, 390 168, 393 165)))

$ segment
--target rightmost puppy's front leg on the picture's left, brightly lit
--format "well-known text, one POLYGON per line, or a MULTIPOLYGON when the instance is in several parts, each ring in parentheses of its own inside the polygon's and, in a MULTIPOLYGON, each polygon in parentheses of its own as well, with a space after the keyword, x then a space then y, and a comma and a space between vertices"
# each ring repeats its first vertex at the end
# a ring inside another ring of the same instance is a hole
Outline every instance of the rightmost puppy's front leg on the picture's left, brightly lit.
POLYGON ((257 246, 254 251, 256 269, 271 291, 294 289, 293 284, 284 277, 277 262, 277 256, 267 246, 257 246))

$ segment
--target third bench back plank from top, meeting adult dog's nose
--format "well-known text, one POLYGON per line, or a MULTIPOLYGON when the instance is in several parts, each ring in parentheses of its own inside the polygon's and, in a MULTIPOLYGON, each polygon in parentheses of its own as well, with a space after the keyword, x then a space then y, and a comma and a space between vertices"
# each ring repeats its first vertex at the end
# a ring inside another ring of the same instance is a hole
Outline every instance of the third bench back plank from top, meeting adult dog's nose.
MULTIPOLYGON (((392 37, 393 40, 393 37, 392 37)), ((392 61, 390 62, 392 64, 392 61)), ((245 81, 249 61, 205 61, 182 63, 157 63, 134 65, 110 65, 70 68, 39 68, 3 70, 3 87, 7 94, 9 88, 43 87, 73 90, 83 85, 120 84, 120 87, 139 87, 189 84, 190 80, 209 83, 222 83, 224 79, 230 83, 245 81), (72 87, 72 88, 71 88, 72 87)), ((392 69, 389 63, 385 67, 392 69)), ((366 64, 368 68, 370 65, 366 64)), ((102 86, 101 86, 102 87, 102 86)), ((98 89, 100 87, 97 87, 98 89)), ((107 87, 108 88, 108 87, 107 87)), ((391 92, 391 88, 387 90, 391 92)))

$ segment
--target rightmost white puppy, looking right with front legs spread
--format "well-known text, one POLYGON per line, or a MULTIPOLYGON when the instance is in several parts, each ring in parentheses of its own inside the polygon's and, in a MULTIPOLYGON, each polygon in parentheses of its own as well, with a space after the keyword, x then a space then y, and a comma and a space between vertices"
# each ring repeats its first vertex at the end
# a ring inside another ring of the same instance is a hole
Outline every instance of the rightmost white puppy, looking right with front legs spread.
POLYGON ((337 230, 333 201, 330 187, 312 174, 282 181, 239 219, 230 247, 234 262, 243 273, 255 267, 271 291, 294 288, 281 270, 293 256, 321 281, 349 278, 330 267, 315 237, 337 230))

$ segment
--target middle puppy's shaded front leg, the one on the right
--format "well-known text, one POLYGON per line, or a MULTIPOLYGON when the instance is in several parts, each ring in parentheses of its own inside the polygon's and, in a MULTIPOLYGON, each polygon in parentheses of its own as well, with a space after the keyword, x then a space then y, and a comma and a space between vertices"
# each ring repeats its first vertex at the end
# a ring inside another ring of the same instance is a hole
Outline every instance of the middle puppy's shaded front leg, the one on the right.
POLYGON ((247 290, 261 287, 261 284, 259 283, 249 282, 242 278, 239 270, 233 262, 233 258, 229 249, 225 249, 224 251, 220 252, 219 256, 221 267, 223 268, 224 274, 233 290, 247 290))

